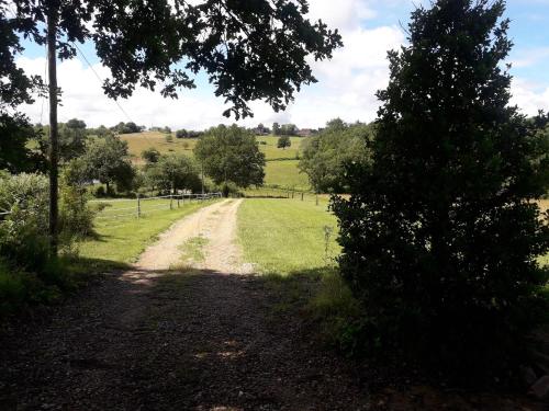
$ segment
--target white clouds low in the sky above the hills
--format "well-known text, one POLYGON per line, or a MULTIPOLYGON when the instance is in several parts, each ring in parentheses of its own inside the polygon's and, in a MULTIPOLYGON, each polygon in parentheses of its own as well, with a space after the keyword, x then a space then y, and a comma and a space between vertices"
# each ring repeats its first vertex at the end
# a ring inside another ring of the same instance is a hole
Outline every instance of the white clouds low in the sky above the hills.
MULTIPOLYGON (((388 0, 403 2, 403 0, 388 0)), ((379 102, 374 95, 389 80, 386 50, 405 42, 402 30, 394 26, 373 26, 373 1, 367 0, 312 0, 311 16, 322 18, 334 27, 340 27, 345 47, 334 53, 329 61, 312 62, 318 83, 305 87, 283 113, 274 113, 266 103, 253 102, 255 117, 239 122, 250 126, 258 123, 295 123, 301 127, 320 127, 334 117, 345 121, 372 121, 379 102), (371 27, 370 27, 371 26, 371 27)), ((29 73, 43 73, 44 58, 22 57, 18 64, 29 73)), ((527 61, 524 62, 525 65, 527 61)), ((109 70, 93 66, 101 78, 109 70)), ((58 67, 59 85, 64 91, 59 119, 83 118, 90 126, 114 125, 127 121, 116 104, 103 95, 101 83, 92 70, 78 59, 63 61, 58 67)), ((526 113, 538 109, 549 110, 549 88, 526 81, 513 82, 513 103, 526 113)), ((213 95, 210 85, 200 90, 182 90, 179 100, 165 100, 158 93, 136 90, 134 96, 121 100, 130 117, 139 125, 201 129, 220 123, 233 123, 222 116, 225 105, 213 95)), ((47 104, 37 102, 24 107, 34 122, 47 121, 47 104)))

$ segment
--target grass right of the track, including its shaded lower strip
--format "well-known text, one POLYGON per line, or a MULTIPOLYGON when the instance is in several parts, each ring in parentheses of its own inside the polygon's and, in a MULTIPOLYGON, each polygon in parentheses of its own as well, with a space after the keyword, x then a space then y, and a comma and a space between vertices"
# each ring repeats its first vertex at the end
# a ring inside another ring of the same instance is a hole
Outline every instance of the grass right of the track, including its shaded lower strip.
POLYGON ((256 264, 277 296, 272 318, 298 309, 317 322, 327 344, 352 352, 352 330, 361 310, 337 273, 336 227, 326 197, 318 206, 300 199, 247 198, 238 210, 244 259, 256 264), (333 229, 327 250, 325 227, 333 229))

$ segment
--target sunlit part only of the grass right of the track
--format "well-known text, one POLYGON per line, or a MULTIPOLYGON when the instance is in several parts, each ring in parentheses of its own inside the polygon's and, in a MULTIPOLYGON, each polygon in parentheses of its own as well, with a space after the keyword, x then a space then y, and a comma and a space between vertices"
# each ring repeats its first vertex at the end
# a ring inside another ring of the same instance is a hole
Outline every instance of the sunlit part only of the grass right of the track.
POLYGON ((327 203, 247 198, 238 209, 238 238, 246 262, 264 273, 289 275, 330 265, 339 252, 335 217, 327 203), (325 250, 324 227, 333 232, 325 250))

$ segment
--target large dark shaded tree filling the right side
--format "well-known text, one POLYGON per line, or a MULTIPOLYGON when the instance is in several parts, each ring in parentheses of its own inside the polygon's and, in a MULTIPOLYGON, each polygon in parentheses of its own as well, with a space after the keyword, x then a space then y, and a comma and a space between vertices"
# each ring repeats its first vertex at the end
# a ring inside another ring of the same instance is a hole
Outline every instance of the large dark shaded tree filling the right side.
POLYGON ((549 233, 533 202, 547 190, 547 116, 529 124, 508 105, 504 9, 438 0, 412 13, 378 93, 373 165, 349 167, 350 199, 333 204, 369 346, 469 381, 516 366, 547 306, 549 233))

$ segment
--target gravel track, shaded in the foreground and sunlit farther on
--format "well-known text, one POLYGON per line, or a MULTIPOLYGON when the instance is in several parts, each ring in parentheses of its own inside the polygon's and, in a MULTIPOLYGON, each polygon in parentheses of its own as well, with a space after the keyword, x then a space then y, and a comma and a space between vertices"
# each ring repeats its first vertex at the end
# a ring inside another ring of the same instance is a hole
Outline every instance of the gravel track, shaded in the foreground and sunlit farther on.
MULTIPOLYGON (((239 204, 187 217, 135 270, 0 332, 0 410, 440 409, 429 392, 372 400, 376 374, 320 347, 299 315, 277 315, 279 296, 239 263, 239 204), (203 261, 167 270, 197 237, 203 261)), ((462 404, 445 409, 484 409, 462 404)))

